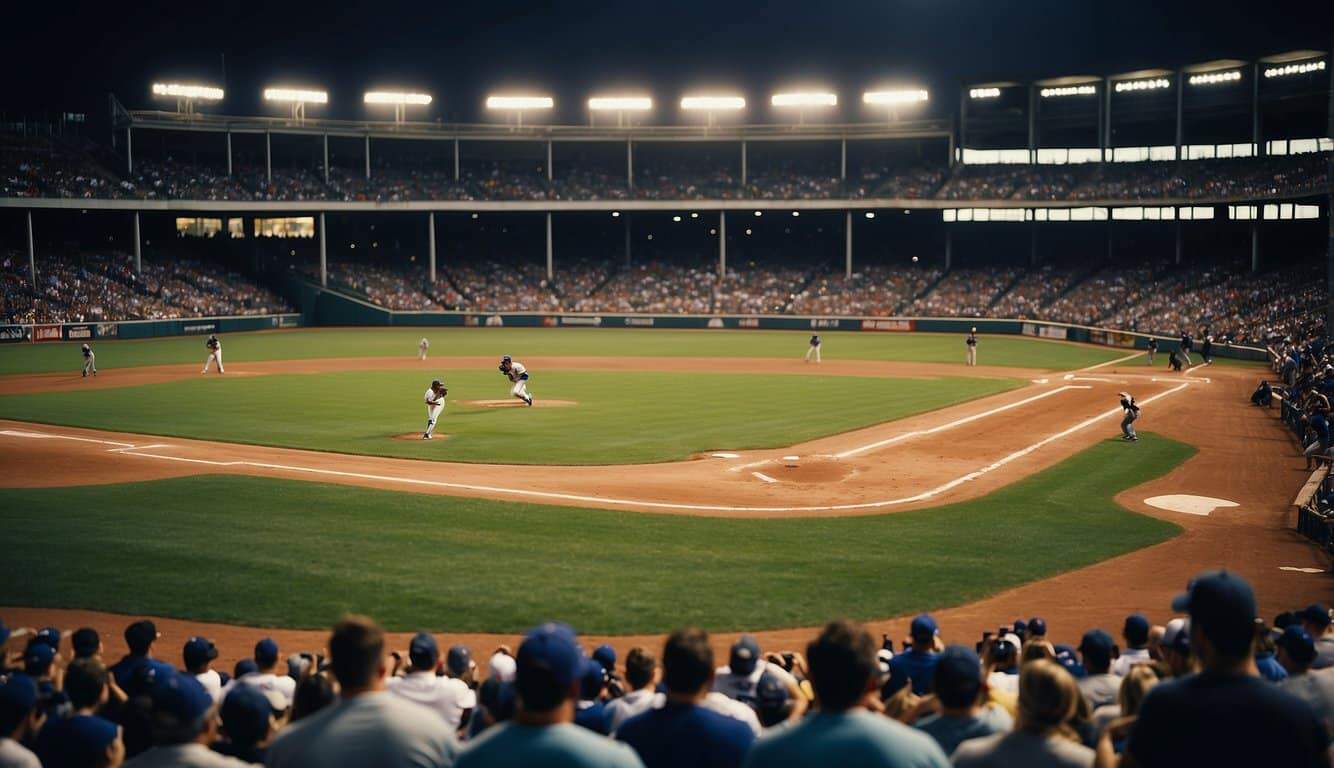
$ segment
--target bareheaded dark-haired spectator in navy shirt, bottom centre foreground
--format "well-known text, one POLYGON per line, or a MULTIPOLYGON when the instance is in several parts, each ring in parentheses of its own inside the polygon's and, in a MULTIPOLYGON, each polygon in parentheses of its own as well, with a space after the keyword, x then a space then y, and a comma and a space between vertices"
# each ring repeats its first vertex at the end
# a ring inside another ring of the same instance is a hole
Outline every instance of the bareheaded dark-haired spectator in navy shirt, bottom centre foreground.
POLYGON ((715 683, 714 651, 702 629, 678 629, 663 647, 667 700, 616 731, 647 768, 736 767, 755 741, 746 724, 702 705, 715 683))

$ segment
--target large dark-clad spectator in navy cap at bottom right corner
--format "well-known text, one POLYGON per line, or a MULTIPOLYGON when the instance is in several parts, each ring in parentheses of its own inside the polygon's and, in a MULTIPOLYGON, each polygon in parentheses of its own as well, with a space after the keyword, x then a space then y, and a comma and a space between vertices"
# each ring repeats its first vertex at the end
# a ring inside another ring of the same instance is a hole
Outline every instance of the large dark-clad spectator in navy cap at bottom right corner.
MULTIPOLYGON (((1157 685, 1129 724, 1122 765, 1329 765, 1329 733, 1311 708, 1263 681, 1251 644, 1255 595, 1226 571, 1195 577, 1173 600, 1190 613, 1190 644, 1201 672, 1157 685)), ((1098 744, 1111 764, 1113 723, 1098 744)))

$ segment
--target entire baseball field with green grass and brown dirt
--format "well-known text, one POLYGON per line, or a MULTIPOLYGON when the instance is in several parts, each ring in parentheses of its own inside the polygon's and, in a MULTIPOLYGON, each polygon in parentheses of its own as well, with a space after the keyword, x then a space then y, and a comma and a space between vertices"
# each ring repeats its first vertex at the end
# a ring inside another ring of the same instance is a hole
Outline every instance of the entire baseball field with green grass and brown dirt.
POLYGON ((1022 600, 1074 624, 1178 591, 1250 528, 1233 560, 1262 600, 1311 589, 1277 576, 1305 552, 1273 527, 1299 472, 1237 455, 1238 431, 1285 439, 1245 409, 1253 368, 1014 336, 970 368, 928 333, 830 333, 807 364, 791 332, 499 328, 427 331, 422 361, 422 335, 229 335, 207 376, 199 337, 99 343, 96 379, 73 344, 0 348, 7 611, 289 631, 362 611, 446 635, 551 616, 628 641, 924 609, 968 627, 1022 600), (432 379, 448 407, 424 441, 432 379), (1145 504, 1165 492, 1241 509, 1145 504), (1129 591, 1078 591, 1113 563, 1129 591))

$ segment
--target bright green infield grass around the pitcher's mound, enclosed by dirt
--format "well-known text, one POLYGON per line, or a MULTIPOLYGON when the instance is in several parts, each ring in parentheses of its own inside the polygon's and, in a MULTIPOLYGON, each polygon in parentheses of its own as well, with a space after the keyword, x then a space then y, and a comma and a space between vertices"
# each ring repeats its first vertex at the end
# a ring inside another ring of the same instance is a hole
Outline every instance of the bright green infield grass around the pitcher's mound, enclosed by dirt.
POLYGON ((408 459, 627 464, 710 449, 791 445, 1019 387, 1013 379, 867 379, 742 373, 535 371, 566 408, 479 408, 506 399, 494 369, 444 371, 443 440, 426 427, 428 373, 352 371, 199 376, 167 384, 0 397, 0 417, 408 459))

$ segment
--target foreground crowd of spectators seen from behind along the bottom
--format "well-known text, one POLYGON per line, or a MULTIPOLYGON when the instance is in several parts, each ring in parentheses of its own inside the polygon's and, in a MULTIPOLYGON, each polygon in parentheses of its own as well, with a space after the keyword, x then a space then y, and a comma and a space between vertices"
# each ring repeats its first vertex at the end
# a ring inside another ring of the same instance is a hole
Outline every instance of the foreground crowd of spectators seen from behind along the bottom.
POLYGON ((1267 625, 1250 585, 1213 571, 1171 609, 1077 647, 1041 617, 946 644, 922 615, 896 653, 832 621, 804 653, 742 636, 722 667, 696 628, 618 663, 547 623, 479 664, 424 632, 394 651, 346 616, 327 648, 264 637, 231 675, 208 639, 147 620, 109 665, 93 629, 0 628, 0 767, 1330 764, 1327 607, 1267 625))

